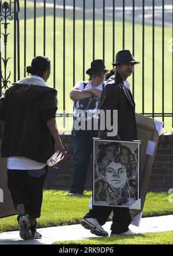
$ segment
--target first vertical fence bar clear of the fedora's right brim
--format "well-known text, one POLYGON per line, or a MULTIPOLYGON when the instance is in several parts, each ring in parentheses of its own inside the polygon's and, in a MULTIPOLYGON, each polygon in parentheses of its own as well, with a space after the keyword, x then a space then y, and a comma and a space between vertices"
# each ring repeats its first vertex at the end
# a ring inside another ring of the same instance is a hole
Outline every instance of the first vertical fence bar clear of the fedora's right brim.
POLYGON ((145 0, 142 0, 142 114, 145 112, 144 92, 144 55, 145 55, 145 0))

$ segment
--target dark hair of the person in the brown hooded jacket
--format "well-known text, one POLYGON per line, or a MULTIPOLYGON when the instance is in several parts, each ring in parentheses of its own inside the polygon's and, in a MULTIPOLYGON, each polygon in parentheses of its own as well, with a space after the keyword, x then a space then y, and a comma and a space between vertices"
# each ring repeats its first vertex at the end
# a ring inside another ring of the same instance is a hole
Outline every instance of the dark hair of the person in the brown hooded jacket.
POLYGON ((32 59, 31 65, 27 66, 26 71, 31 75, 42 77, 48 68, 50 69, 50 60, 46 56, 36 56, 32 59))

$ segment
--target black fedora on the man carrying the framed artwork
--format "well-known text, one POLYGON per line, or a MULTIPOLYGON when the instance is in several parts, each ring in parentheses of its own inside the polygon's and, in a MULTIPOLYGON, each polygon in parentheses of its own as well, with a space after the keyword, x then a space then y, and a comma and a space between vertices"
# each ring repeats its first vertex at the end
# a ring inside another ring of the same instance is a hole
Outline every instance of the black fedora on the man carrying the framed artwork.
POLYGON ((116 66, 123 62, 132 62, 134 65, 140 64, 140 62, 134 60, 134 57, 129 50, 118 51, 118 53, 116 53, 115 62, 112 63, 112 65, 116 66))

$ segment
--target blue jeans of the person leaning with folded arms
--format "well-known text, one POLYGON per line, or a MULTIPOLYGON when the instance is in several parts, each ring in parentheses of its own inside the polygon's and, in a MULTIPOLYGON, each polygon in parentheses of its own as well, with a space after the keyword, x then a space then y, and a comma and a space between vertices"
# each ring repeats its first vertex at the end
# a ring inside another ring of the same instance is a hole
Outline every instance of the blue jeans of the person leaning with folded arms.
POLYGON ((84 192, 88 165, 91 159, 93 137, 97 137, 97 131, 72 132, 74 147, 73 184, 70 192, 82 194, 84 192))

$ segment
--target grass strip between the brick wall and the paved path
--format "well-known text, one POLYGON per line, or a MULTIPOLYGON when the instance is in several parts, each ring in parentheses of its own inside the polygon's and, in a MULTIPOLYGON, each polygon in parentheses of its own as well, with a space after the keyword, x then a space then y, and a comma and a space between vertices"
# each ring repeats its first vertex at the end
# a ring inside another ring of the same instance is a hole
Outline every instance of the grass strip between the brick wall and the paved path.
MULTIPOLYGON (((69 196, 68 191, 45 190, 43 195, 42 217, 38 227, 79 224, 88 212, 91 191, 82 196, 69 196)), ((168 202, 167 192, 148 192, 143 217, 173 214, 172 203, 168 202)), ((0 232, 17 230, 16 216, 0 219, 0 232)))

